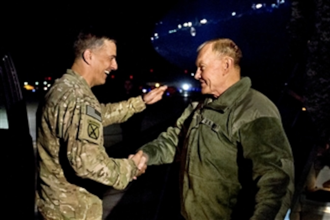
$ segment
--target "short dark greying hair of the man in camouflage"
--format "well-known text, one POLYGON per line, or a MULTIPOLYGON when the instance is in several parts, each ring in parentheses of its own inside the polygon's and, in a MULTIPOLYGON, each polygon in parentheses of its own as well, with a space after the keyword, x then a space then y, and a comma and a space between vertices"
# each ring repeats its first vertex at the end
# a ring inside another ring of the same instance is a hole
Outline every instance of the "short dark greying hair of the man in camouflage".
POLYGON ((110 40, 116 43, 115 39, 106 35, 81 31, 73 44, 75 59, 82 57, 82 53, 86 49, 93 50, 102 47, 105 40, 110 40))

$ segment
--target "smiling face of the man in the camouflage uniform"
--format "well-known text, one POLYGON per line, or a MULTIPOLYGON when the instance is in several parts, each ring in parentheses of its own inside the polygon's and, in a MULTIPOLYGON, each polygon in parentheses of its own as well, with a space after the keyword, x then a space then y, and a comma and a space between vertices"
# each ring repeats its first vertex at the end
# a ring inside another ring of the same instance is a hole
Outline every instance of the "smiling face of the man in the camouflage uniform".
POLYGON ((101 47, 93 49, 91 59, 92 67, 92 86, 103 85, 108 74, 118 68, 116 55, 116 44, 111 40, 104 40, 101 47))

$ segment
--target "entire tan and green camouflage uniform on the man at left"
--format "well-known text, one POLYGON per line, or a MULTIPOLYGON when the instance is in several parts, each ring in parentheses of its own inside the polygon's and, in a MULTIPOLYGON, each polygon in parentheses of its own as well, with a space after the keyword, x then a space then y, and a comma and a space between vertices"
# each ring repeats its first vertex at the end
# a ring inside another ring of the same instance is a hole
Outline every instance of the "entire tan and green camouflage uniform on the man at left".
POLYGON ((72 70, 56 80, 38 110, 37 206, 45 219, 101 219, 102 201, 84 188, 90 179, 116 189, 132 180, 132 160, 109 158, 103 126, 146 108, 142 97, 100 104, 72 70), (77 181, 78 180, 78 181, 77 181))

